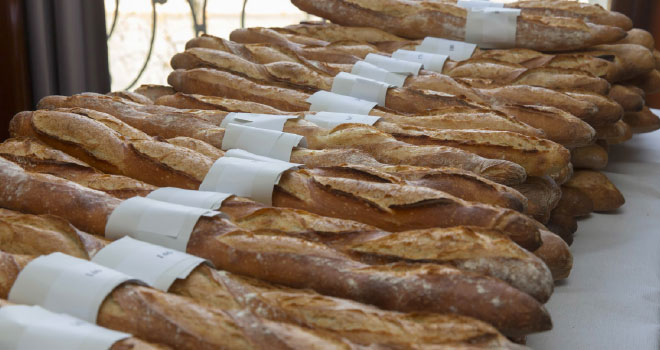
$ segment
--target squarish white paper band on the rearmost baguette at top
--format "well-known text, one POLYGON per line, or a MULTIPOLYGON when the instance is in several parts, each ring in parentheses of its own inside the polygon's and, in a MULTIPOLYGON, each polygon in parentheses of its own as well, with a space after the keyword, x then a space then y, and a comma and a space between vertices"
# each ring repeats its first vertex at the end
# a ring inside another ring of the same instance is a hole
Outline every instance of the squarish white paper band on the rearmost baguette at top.
POLYGON ((473 8, 467 11, 465 41, 487 49, 516 46, 519 9, 473 8))

